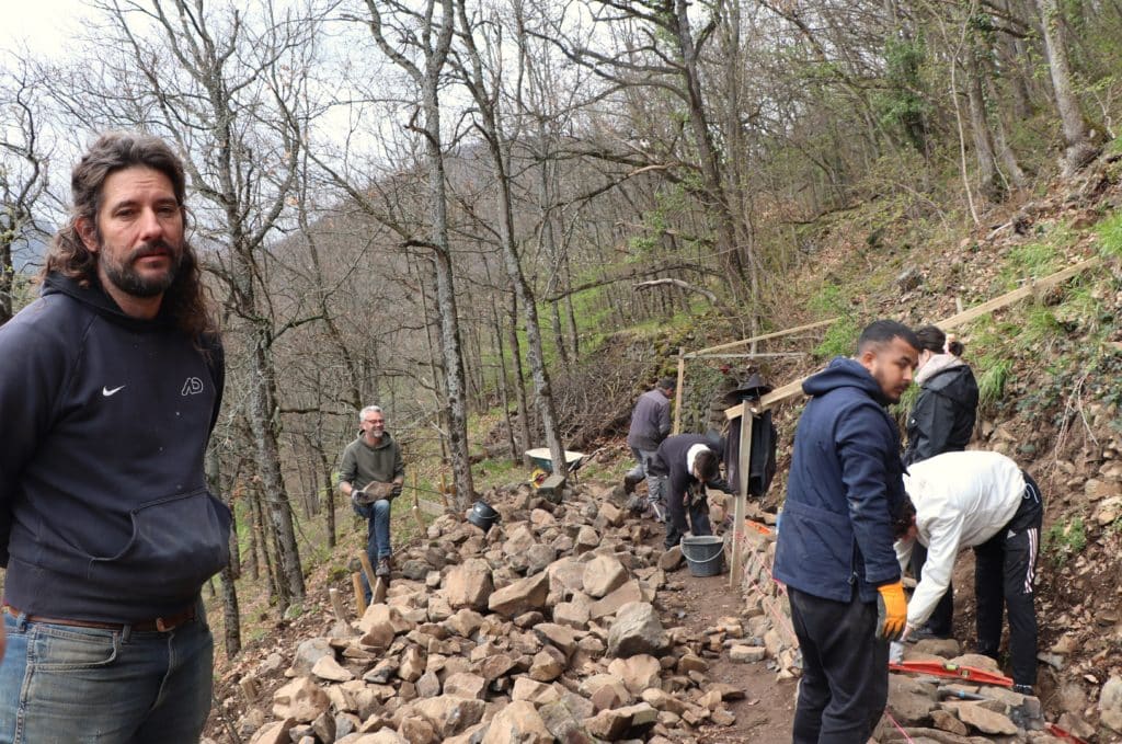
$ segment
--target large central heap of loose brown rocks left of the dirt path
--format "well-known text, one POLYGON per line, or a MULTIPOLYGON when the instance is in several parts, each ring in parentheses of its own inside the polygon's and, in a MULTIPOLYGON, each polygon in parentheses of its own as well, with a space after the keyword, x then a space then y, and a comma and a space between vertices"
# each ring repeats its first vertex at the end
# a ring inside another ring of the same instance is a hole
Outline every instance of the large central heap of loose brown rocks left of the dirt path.
POLYGON ((302 643, 272 710, 242 716, 240 735, 690 742, 732 725, 725 704, 743 692, 710 681, 707 659, 745 635, 741 619, 705 634, 663 626, 656 605, 681 553, 644 545, 661 527, 628 518, 620 496, 587 486, 552 504, 519 488, 493 500, 503 518, 487 534, 439 518, 399 555, 386 603, 302 643))

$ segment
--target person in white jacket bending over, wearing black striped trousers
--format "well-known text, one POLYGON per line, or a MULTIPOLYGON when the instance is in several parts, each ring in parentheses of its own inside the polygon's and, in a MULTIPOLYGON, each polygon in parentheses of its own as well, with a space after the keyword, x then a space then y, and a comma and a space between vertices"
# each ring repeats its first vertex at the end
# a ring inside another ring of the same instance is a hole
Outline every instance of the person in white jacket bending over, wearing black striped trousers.
POLYGON ((904 474, 905 504, 896 521, 896 558, 908 566, 918 540, 927 563, 908 603, 908 631, 920 627, 950 582, 963 548, 975 555, 978 653, 997 656, 1002 608, 1009 608, 1014 690, 1032 695, 1037 682, 1037 613, 1032 582, 1043 503, 1040 489, 1015 462, 997 452, 947 452, 904 474))

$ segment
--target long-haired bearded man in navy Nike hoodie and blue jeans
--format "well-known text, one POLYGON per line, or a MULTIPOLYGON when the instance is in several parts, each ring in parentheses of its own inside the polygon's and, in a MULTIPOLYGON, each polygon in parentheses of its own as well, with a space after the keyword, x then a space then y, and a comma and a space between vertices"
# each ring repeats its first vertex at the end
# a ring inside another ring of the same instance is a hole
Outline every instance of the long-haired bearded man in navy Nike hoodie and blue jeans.
POLYGON ((230 511, 203 472, 222 349, 183 164, 103 135, 71 187, 43 296, 0 328, 0 742, 195 743, 200 589, 229 561, 230 511))

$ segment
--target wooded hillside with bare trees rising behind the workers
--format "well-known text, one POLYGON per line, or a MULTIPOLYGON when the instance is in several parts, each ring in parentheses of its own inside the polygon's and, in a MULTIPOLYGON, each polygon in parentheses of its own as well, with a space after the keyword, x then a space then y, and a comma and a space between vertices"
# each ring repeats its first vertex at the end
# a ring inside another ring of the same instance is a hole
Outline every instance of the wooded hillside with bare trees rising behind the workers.
MULTIPOLYGON (((209 461, 239 521, 227 654, 242 568, 267 617, 298 613, 365 404, 462 509, 473 461, 610 444, 679 348, 839 318, 755 349, 803 355, 757 359, 784 383, 872 319, 937 321, 1098 255, 959 330, 977 442, 1052 488, 1055 617, 1089 623, 1087 674, 1118 672, 1118 3, 142 0, 76 18, 0 57, 0 323, 36 292, 13 247, 63 221, 92 135, 174 143, 229 365, 209 461)), ((747 364, 691 368, 688 425, 747 364)))

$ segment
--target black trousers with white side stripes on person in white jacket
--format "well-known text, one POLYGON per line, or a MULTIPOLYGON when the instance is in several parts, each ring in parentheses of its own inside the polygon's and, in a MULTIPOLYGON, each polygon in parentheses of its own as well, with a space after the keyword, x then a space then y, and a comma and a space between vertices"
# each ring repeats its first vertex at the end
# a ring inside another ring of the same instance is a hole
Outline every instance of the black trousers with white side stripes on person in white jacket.
POLYGON ((1009 651, 1013 682, 1037 683, 1037 610, 1032 581, 1043 499, 1037 483, 1024 474, 1024 496, 1009 524, 974 549, 974 591, 977 598, 978 652, 997 656, 1001 619, 1009 612, 1009 651))

